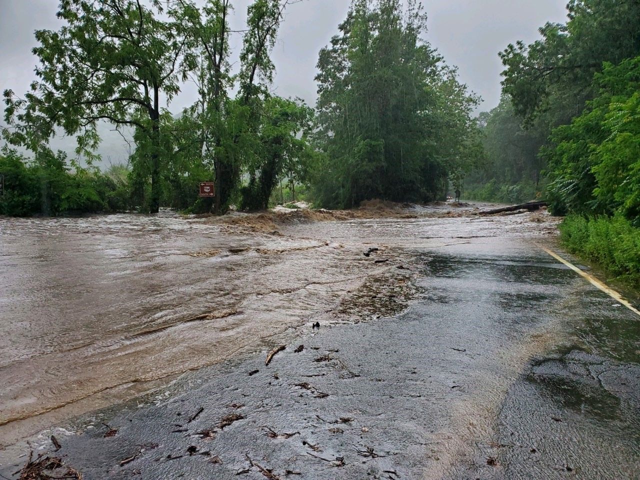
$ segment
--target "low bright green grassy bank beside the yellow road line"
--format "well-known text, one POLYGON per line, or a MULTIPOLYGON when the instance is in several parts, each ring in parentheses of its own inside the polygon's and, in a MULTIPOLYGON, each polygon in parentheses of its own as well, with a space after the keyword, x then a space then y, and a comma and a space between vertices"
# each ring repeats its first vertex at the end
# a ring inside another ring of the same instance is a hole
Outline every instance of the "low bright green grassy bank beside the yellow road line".
POLYGON ((568 216, 560 225, 561 242, 607 274, 640 289, 640 228, 625 218, 568 216))

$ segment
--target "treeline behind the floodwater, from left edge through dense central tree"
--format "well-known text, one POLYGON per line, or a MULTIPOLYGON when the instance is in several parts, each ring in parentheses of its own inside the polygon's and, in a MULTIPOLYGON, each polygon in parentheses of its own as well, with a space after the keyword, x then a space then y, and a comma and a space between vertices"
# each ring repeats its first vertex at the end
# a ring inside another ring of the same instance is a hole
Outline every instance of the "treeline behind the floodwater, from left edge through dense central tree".
POLYGON ((257 210, 284 197, 278 192, 283 182, 291 190, 302 185, 323 207, 444 197, 449 180, 460 182, 479 156, 471 118, 477 99, 424 40, 421 8, 413 1, 407 8, 400 0, 354 1, 339 35, 320 52, 314 111, 270 90, 270 52, 289 3, 250 4, 239 67, 232 68, 231 0, 207 0, 202 7, 191 0, 61 2, 64 26, 36 31, 37 81, 25 95, 4 92, 4 139, 29 150, 31 159, 23 158, 20 170, 16 150, 5 148, 2 162, 13 173, 1 212, 157 212, 166 206, 223 213, 232 204, 257 210), (196 83, 198 100, 172 113, 166 106, 186 81, 196 83), (59 191, 43 186, 43 172, 51 170, 45 157, 59 159, 56 175, 66 175, 67 189, 81 179, 108 178, 77 165, 77 159, 97 160, 104 122, 124 136, 133 132, 131 172, 117 194, 82 184, 78 195, 95 201, 81 209, 49 197, 26 209, 12 206, 10 196, 22 195, 18 184, 39 183, 25 195, 59 191), (74 162, 49 149, 60 132, 77 138, 74 162), (19 171, 28 178, 16 180, 19 171), (198 198, 198 183, 206 180, 215 182, 214 199, 198 198), (113 195, 117 204, 109 200, 113 195))

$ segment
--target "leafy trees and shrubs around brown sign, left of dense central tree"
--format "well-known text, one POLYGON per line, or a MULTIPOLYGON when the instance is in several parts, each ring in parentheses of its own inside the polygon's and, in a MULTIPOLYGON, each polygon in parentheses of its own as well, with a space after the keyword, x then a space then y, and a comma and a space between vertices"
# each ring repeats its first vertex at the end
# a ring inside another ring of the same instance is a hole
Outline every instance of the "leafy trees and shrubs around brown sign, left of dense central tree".
MULTIPOLYGON (((124 136, 133 132, 127 200, 119 207, 265 208, 276 183, 299 180, 312 156, 312 109, 269 89, 270 52, 289 3, 250 4, 239 68, 232 72, 230 0, 207 0, 202 8, 189 0, 65 0, 58 12, 64 26, 36 31, 38 80, 24 96, 4 92, 4 138, 33 152, 25 172, 40 168, 40 157, 60 156, 49 149, 60 131, 76 136, 77 156, 91 163, 99 126, 107 122, 124 136), (198 100, 173 115, 166 106, 186 81, 196 83, 198 100), (215 198, 198 198, 198 183, 212 179, 215 198)), ((68 183, 104 177, 74 170, 66 173, 68 183)), ((8 195, 11 189, 9 182, 8 195)), ((96 193, 102 200, 96 209, 108 204, 102 190, 96 193)), ((6 214, 25 213, 6 200, 0 205, 6 214)))

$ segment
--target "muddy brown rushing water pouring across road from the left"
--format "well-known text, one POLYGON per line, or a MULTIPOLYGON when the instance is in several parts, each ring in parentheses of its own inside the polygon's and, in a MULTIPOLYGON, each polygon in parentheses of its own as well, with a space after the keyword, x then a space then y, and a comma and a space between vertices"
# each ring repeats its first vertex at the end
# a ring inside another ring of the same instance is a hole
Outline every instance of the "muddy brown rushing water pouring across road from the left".
POLYGON ((279 235, 170 213, 1 219, 0 443, 258 349, 312 316, 346 319, 358 291, 401 275, 414 248, 554 231, 531 215, 412 212, 292 222, 279 235), (364 257, 369 246, 381 252, 364 257))

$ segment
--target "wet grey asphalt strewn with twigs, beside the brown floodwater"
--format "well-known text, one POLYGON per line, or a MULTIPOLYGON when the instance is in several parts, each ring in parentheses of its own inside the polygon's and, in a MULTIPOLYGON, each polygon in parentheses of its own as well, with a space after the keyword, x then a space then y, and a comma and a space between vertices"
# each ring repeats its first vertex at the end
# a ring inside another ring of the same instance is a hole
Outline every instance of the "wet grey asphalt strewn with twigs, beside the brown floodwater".
POLYGON ((410 299, 369 282, 342 321, 31 444, 85 480, 640 478, 640 319, 526 239, 412 248, 410 299))

